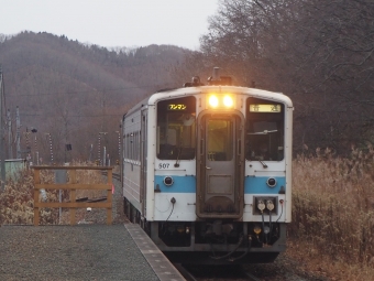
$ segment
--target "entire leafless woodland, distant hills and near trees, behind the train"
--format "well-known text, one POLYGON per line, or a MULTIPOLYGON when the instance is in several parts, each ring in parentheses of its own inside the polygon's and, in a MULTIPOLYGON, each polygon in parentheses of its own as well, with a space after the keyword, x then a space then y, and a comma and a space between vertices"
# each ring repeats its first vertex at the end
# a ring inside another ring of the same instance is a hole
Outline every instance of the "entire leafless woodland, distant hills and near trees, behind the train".
POLYGON ((238 85, 292 97, 295 154, 329 148, 348 155, 352 144, 373 143, 373 51, 369 0, 220 0, 195 52, 107 50, 47 33, 0 35, 6 107, 12 116, 20 107, 22 150, 33 149, 36 133, 28 131, 37 128, 37 149, 48 159, 51 133, 56 161, 97 159, 99 132, 107 132, 101 145, 114 161, 116 131, 129 106, 193 75, 205 80, 213 66, 238 85))

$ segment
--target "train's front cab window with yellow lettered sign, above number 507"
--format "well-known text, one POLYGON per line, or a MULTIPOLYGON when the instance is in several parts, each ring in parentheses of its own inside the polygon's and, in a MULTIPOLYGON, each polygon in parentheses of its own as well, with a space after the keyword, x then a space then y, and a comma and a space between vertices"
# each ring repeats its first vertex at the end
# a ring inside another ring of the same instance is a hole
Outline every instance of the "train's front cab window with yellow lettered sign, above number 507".
POLYGON ((157 102, 157 158, 190 160, 196 151, 196 99, 184 97, 157 102))

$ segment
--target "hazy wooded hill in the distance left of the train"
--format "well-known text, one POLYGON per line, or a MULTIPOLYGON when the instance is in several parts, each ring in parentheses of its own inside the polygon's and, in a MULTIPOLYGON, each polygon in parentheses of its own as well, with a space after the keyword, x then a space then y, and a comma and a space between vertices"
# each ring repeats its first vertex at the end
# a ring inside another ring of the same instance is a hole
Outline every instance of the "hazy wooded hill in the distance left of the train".
POLYGON ((16 156, 14 118, 19 107, 22 158, 30 148, 34 161, 37 150, 48 163, 50 133, 54 162, 95 160, 99 132, 106 132, 100 145, 117 160, 116 131, 123 114, 157 89, 180 86, 172 80, 169 69, 186 52, 172 45, 108 50, 45 32, 0 35, 4 106, 12 120, 10 133, 6 126, 6 141, 12 145, 7 158, 16 156), (70 151, 66 144, 72 144, 70 151))

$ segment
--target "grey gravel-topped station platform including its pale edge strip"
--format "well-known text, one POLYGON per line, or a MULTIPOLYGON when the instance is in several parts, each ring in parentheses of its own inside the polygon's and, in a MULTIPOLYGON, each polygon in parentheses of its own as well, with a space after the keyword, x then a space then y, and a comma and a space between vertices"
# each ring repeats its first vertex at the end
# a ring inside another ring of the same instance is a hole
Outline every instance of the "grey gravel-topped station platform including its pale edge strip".
POLYGON ((0 227, 0 280, 185 280, 138 225, 0 227))

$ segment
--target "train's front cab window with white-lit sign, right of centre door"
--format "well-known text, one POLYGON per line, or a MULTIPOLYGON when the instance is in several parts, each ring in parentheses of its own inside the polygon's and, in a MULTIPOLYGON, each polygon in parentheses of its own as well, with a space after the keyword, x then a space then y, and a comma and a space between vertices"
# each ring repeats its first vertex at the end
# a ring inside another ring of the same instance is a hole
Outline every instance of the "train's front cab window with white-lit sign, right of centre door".
POLYGON ((249 98, 246 100, 246 160, 284 159, 285 108, 283 104, 249 98))

